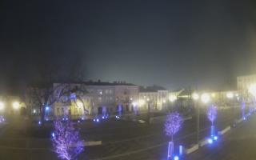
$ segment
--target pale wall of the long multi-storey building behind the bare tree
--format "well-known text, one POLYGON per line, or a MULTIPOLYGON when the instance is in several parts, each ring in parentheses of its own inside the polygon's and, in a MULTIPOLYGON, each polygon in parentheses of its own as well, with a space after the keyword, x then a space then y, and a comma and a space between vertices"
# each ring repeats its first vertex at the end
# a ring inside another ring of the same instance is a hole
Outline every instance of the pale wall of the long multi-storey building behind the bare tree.
MULTIPOLYGON (((83 88, 86 90, 86 95, 79 95, 79 100, 83 103, 86 102, 86 110, 82 110, 82 114, 98 115, 102 114, 102 109, 106 107, 109 114, 117 111, 117 106, 121 105, 123 111, 131 111, 132 103, 138 101, 138 86, 135 85, 85 85, 85 84, 72 84, 73 87, 83 88)), ((58 94, 58 92, 56 93, 58 94)), ((77 96, 78 97, 78 96, 77 96)), ((62 115, 62 108, 67 108, 68 114, 77 116, 75 113, 80 113, 76 107, 63 102, 54 103, 54 114, 62 115), (61 108, 61 109, 58 109, 61 108)))

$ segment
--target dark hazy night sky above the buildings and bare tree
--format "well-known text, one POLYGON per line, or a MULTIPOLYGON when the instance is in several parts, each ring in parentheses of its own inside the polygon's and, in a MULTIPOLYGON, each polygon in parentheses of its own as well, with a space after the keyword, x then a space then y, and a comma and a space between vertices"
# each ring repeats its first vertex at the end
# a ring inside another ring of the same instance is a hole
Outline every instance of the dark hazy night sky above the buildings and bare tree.
POLYGON ((42 61, 82 61, 86 80, 220 89, 256 73, 254 1, 0 2, 0 90, 42 61))

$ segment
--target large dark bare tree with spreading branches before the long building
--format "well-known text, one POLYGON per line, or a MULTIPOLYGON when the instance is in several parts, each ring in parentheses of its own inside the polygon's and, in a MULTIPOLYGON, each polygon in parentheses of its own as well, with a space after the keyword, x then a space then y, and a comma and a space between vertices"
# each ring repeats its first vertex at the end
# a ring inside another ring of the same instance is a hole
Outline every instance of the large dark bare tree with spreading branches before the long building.
POLYGON ((62 96, 70 97, 74 93, 86 93, 86 90, 71 85, 74 82, 82 83, 84 80, 82 62, 79 59, 81 58, 74 60, 66 68, 63 68, 62 64, 48 62, 47 58, 42 58, 42 63, 38 64, 34 79, 26 90, 26 98, 30 98, 30 101, 26 102, 34 102, 34 106, 38 106, 42 123, 47 106, 52 106, 62 96))

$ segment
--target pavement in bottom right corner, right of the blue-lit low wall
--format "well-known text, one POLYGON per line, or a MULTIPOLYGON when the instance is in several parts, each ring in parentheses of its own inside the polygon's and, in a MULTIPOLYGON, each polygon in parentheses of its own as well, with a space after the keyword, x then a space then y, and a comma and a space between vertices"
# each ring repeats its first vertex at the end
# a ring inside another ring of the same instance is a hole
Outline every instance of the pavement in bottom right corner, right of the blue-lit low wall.
POLYGON ((186 156, 187 160, 255 160, 256 159, 256 115, 239 124, 236 128, 219 138, 213 145, 206 145, 193 154, 186 156))

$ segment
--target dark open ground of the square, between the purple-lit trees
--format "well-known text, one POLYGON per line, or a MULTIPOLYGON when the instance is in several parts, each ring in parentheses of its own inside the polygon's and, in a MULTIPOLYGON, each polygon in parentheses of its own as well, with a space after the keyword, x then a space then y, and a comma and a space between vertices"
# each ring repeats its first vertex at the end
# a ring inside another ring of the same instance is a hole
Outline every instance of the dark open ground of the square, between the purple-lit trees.
MULTIPOLYGON (((233 122, 230 111, 218 114, 217 127, 221 130, 233 122)), ((182 130, 174 137, 176 144, 190 146, 196 140, 196 118, 183 123, 182 130)), ((210 133, 210 122, 202 117, 200 137, 210 133)), ((101 140, 102 146, 86 147, 78 159, 165 159, 169 138, 162 132, 163 124, 115 121, 79 125, 86 141, 101 140)), ((0 159, 57 159, 51 149, 51 127, 44 129, 28 126, 26 122, 11 122, 0 134, 0 159)))

